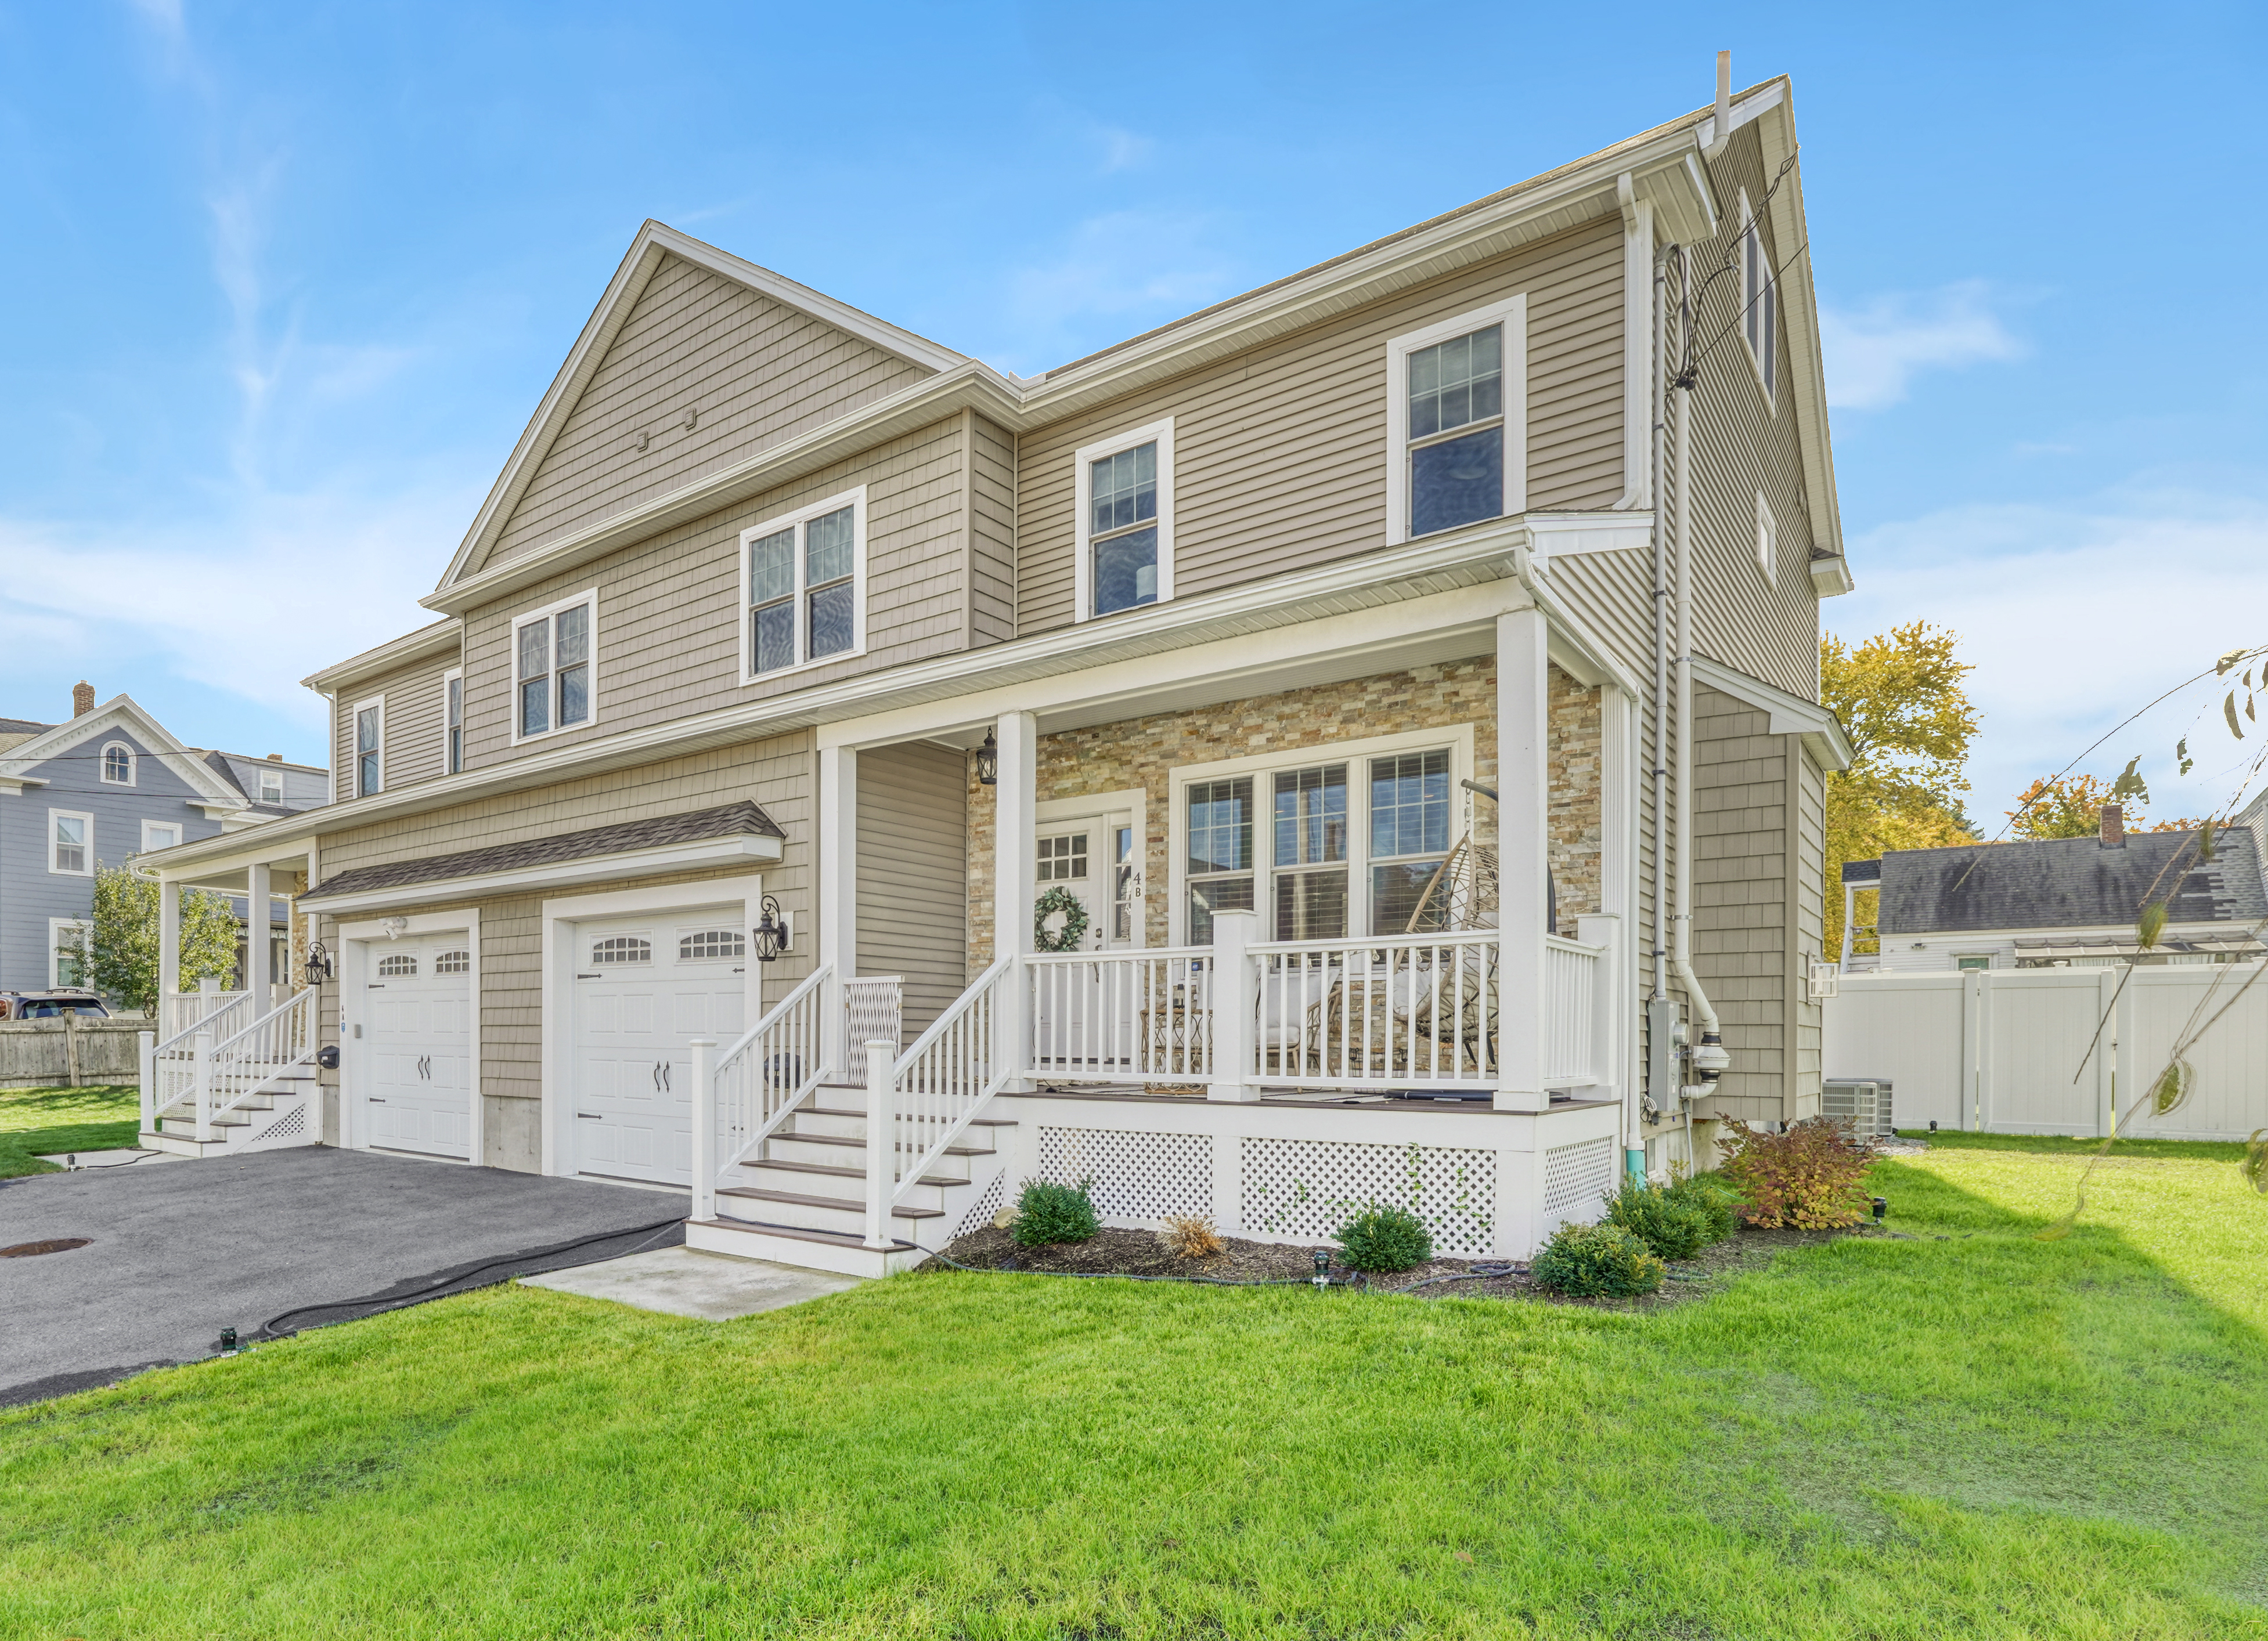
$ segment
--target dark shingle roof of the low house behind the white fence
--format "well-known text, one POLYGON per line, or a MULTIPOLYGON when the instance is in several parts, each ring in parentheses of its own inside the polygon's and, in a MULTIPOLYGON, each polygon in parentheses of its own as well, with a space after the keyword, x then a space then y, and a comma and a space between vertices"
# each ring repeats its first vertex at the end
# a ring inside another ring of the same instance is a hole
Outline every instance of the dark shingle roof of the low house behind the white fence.
POLYGON ((2259 850, 2245 827, 2214 834, 2214 859, 2195 859, 2195 832, 2127 832, 2100 839, 2028 839, 1882 854, 1885 938, 1987 929, 2121 929, 2143 904, 2168 900, 2166 920, 2268 918, 2259 850))

